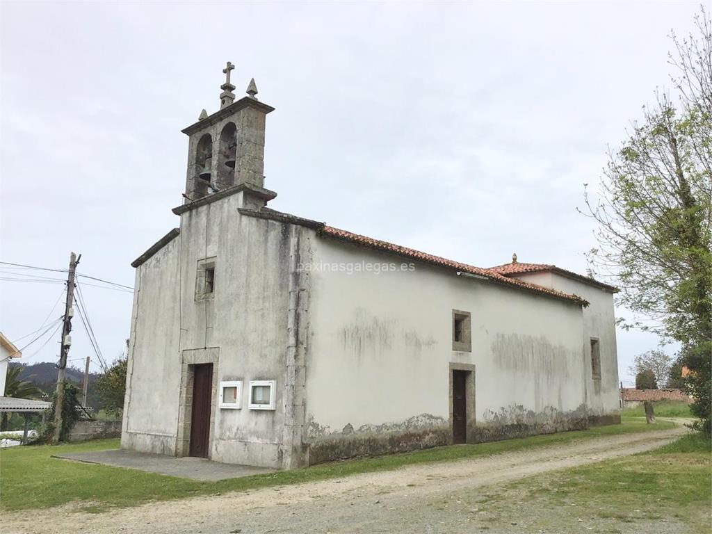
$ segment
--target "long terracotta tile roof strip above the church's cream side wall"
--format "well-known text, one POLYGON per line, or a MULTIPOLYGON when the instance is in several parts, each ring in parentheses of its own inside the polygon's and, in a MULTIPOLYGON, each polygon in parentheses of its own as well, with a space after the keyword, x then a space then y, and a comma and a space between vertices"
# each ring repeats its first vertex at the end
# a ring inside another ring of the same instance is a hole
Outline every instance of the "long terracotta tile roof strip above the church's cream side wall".
POLYGON ((379 241, 378 239, 372 239, 367 236, 361 236, 359 234, 354 234, 350 231, 340 230, 333 228, 333 226, 323 226, 320 230, 320 234, 323 236, 333 237, 335 239, 340 239, 342 241, 349 241, 350 243, 357 244, 360 246, 366 246, 368 248, 375 248, 381 251, 388 251, 396 253, 399 256, 404 256, 406 258, 412 258, 419 261, 424 261, 426 263, 431 263, 437 266, 451 268, 454 271, 460 271, 463 273, 474 274, 477 276, 483 276, 490 281, 501 283, 504 286, 511 286, 514 288, 519 288, 523 290, 528 290, 533 293, 540 293, 543 295, 549 295, 555 298, 561 298, 564 300, 569 300, 577 304, 587 306, 587 300, 581 298, 577 295, 570 295, 569 293, 562 293, 561 291, 545 288, 543 286, 538 286, 533 283, 524 282, 518 280, 517 278, 508 278, 503 276, 501 273, 493 271, 492 269, 486 269, 482 267, 475 267, 468 265, 466 263, 459 263, 458 261, 449 260, 447 258, 441 258, 440 256, 433 256, 432 254, 424 253, 421 251, 414 250, 413 248, 407 248, 404 246, 395 245, 387 241, 379 241))

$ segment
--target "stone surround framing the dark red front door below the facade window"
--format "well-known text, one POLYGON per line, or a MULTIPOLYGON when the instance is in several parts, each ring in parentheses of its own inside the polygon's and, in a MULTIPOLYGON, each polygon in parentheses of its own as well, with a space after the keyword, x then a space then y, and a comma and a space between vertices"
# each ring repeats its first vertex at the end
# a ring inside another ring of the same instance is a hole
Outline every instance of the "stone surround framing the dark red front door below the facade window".
POLYGON ((194 365, 211 363, 213 365, 213 384, 210 400, 210 436, 208 439, 208 458, 213 455, 213 438, 215 429, 215 412, 218 397, 218 363, 219 347, 204 349, 188 349, 181 353, 180 392, 178 404, 178 431, 176 439, 176 456, 190 454, 190 423, 193 411, 193 375, 194 365))

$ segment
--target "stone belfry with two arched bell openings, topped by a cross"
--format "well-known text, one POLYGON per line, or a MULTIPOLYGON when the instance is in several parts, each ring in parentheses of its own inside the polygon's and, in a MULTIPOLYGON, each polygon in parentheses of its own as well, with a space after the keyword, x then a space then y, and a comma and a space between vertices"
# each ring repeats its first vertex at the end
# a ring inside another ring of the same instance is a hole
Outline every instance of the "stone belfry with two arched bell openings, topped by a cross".
MULTIPOLYGON (((242 192, 245 207, 259 208, 276 193, 264 189, 265 117, 273 111, 257 100, 254 78, 247 96, 235 100, 228 61, 220 86, 220 109, 203 110, 198 122, 183 130, 189 137, 185 204, 208 200, 218 194, 242 192)), ((201 202, 202 203, 202 202, 201 202)))

